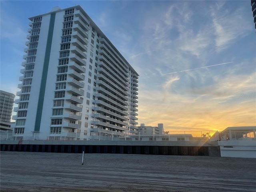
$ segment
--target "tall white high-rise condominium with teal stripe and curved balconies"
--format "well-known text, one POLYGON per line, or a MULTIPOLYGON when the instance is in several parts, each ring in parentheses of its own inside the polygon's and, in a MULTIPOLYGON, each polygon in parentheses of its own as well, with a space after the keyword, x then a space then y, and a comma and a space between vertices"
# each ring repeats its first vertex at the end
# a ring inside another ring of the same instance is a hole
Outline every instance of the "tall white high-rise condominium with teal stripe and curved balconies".
POLYGON ((81 6, 29 19, 14 132, 88 140, 135 130, 138 73, 81 6))

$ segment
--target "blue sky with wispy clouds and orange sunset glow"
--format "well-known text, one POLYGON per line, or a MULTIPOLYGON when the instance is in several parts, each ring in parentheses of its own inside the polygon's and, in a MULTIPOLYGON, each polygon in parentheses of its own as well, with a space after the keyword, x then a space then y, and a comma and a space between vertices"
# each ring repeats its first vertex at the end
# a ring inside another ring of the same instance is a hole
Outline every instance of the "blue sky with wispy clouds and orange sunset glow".
POLYGON ((140 75, 139 124, 163 123, 165 130, 256 124, 256 30, 250 1, 0 4, 1 90, 19 91, 28 18, 54 6, 80 5, 140 75))

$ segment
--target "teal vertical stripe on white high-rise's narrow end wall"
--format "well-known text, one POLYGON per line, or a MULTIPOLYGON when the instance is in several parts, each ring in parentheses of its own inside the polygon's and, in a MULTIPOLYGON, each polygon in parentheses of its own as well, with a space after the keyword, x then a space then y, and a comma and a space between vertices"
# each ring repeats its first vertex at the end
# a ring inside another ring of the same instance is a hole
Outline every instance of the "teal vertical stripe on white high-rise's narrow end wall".
POLYGON ((45 93, 45 89, 46 89, 46 80, 47 80, 47 73, 48 73, 51 47, 52 47, 52 36, 53 36, 54 22, 55 22, 55 13, 51 14, 51 18, 50 18, 50 26, 49 26, 48 37, 47 37, 47 42, 46 42, 46 50, 45 50, 45 56, 44 56, 44 66, 43 66, 40 92, 39 92, 39 97, 38 97, 38 105, 37 105, 37 111, 36 111, 36 123, 35 123, 35 128, 34 128, 35 132, 40 131, 42 111, 43 111, 43 106, 44 106, 44 93, 45 93))

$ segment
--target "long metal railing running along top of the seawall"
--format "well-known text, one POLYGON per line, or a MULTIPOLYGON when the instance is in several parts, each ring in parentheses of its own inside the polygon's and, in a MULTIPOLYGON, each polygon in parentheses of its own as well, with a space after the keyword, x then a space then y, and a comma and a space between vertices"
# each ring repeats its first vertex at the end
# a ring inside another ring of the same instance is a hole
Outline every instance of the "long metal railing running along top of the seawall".
MULTIPOLYGON (((24 133, 17 134, 12 131, 1 131, 0 140, 83 140, 84 135, 74 132, 61 133, 24 133), (81 138, 80 138, 81 136, 81 138)), ((87 138, 88 140, 88 138, 87 138)), ((255 130, 246 131, 133 131, 114 132, 94 128, 90 132, 90 140, 128 140, 128 141, 226 141, 226 140, 254 140, 255 130)))

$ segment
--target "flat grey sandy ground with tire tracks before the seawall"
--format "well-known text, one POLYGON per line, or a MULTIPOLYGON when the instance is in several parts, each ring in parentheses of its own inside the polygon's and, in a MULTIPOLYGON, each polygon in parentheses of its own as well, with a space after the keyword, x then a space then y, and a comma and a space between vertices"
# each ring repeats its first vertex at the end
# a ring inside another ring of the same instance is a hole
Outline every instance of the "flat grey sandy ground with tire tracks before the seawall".
POLYGON ((252 192, 255 159, 1 152, 1 192, 252 192))

